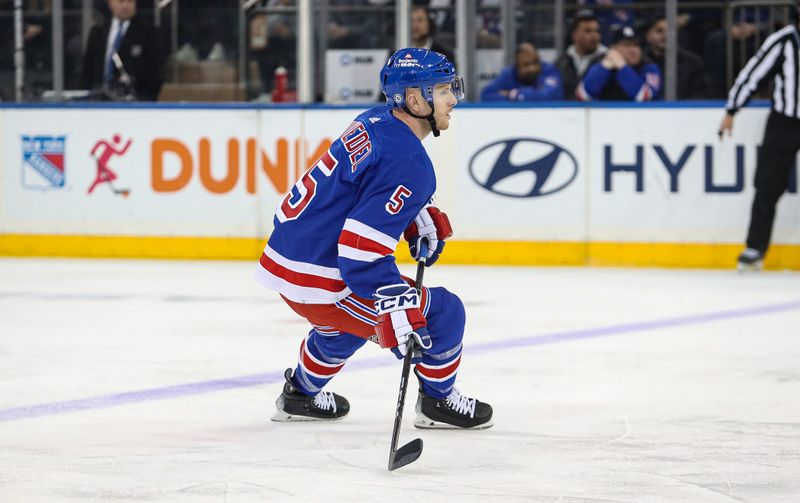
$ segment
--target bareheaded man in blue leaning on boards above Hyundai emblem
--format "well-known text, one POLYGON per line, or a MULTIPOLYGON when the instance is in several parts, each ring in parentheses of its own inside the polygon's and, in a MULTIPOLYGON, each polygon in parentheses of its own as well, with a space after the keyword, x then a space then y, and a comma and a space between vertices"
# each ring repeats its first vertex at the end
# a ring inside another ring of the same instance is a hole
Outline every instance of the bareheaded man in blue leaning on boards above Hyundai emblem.
POLYGON ((533 44, 517 46, 514 66, 504 68, 500 75, 481 92, 481 101, 545 101, 563 97, 561 73, 539 58, 533 44))

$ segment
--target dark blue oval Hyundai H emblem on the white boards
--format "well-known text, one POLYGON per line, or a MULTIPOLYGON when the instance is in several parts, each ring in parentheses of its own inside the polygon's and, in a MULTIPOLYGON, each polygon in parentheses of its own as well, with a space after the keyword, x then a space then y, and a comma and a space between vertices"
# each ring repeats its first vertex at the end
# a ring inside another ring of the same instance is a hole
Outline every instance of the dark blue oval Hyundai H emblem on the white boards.
POLYGON ((578 175, 568 150, 537 138, 509 138, 480 149, 469 174, 484 189, 508 197, 540 197, 558 192, 578 175))

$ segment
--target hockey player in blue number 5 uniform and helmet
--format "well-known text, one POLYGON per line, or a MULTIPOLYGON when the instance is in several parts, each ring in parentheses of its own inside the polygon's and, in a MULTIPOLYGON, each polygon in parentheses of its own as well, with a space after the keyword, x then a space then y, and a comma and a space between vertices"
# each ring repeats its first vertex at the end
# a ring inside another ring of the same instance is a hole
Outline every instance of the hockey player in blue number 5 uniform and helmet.
POLYGON ((439 136, 464 95, 444 56, 401 49, 380 74, 388 106, 355 118, 286 195, 274 218, 257 275, 312 326, 287 369, 275 421, 334 420, 349 402, 323 391, 367 339, 412 360, 419 379, 420 428, 488 428, 492 408, 454 388, 465 313, 444 288, 423 288, 395 265, 405 234, 412 256, 427 249, 433 264, 452 235, 447 216, 431 204, 436 177, 422 146, 439 136), (421 246, 426 240, 428 246, 421 246))

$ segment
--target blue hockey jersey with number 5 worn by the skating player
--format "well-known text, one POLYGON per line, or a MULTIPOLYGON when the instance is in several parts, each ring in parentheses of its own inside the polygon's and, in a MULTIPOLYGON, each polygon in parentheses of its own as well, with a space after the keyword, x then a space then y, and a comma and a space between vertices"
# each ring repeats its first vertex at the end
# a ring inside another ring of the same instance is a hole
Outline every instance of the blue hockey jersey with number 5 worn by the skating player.
POLYGON ((303 304, 402 283, 393 253, 436 191, 422 142, 391 108, 367 110, 281 201, 257 277, 303 304))

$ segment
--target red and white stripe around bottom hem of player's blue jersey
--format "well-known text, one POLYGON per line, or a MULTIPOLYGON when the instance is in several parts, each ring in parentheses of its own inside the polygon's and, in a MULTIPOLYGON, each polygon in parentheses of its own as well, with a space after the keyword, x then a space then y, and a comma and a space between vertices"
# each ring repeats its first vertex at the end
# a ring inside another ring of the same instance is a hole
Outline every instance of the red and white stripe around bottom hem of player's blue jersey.
POLYGON ((339 269, 290 260, 269 244, 261 254, 256 278, 267 288, 301 304, 333 304, 351 293, 339 269))

